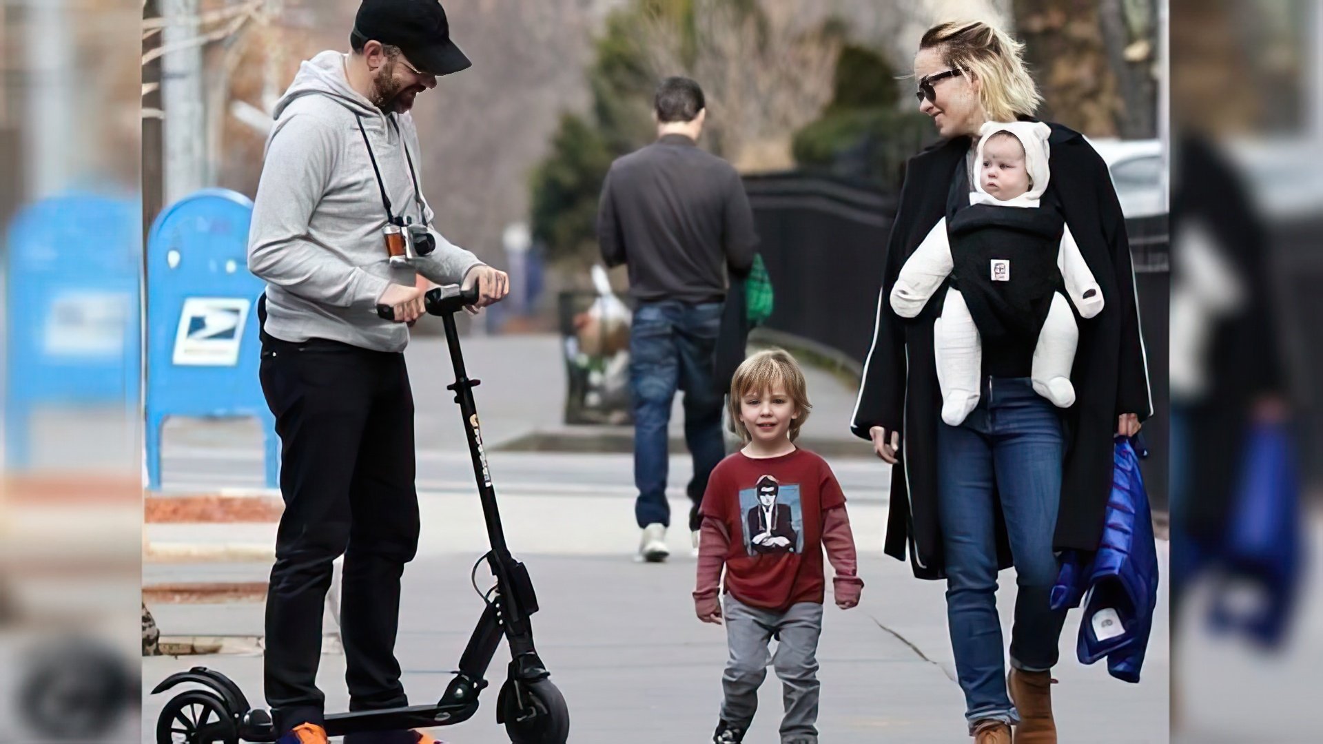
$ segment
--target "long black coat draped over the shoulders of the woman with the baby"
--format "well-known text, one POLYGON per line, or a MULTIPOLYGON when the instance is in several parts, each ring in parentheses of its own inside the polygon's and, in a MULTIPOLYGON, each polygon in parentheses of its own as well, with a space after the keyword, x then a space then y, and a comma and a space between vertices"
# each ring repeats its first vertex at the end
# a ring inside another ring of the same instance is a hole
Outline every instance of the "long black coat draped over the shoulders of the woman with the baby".
MULTIPOLYGON (((1102 158, 1080 132, 1052 124, 1049 167, 1062 214, 1090 271, 1102 289, 1105 307, 1080 322, 1070 379, 1076 404, 1062 413, 1066 454, 1061 507, 1053 545, 1093 551, 1102 535, 1111 487, 1113 434, 1117 417, 1152 414, 1148 371, 1139 334, 1130 244, 1121 204, 1102 158)), ((942 535, 937 518, 937 426, 942 396, 933 361, 933 320, 941 302, 929 302, 914 319, 896 315, 888 298, 901 265, 945 214, 951 179, 970 148, 955 138, 909 160, 896 221, 886 245, 882 291, 877 303, 873 344, 864 365, 863 385, 851 430, 869 438, 885 426, 902 436, 902 466, 892 469, 886 555, 905 560, 919 579, 945 577, 942 535)), ((941 297, 941 294, 934 295, 941 297)), ((1000 520, 1000 508, 996 510, 1000 520)), ((999 524, 999 564, 1011 565, 1004 527, 999 524)))

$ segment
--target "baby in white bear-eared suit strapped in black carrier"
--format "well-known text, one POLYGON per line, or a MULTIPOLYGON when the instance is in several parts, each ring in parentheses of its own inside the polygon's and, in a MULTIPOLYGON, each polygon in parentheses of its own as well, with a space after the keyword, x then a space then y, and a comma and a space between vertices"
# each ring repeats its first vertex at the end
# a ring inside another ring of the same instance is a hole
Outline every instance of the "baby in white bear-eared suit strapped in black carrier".
POLYGON ((1102 290, 1061 210, 1043 201, 1050 127, 988 122, 979 134, 968 207, 937 222, 890 294, 896 314, 914 318, 947 286, 933 334, 942 421, 951 426, 979 402, 984 344, 1032 343, 1033 389, 1073 405, 1080 330, 1072 303, 1081 318, 1102 311, 1102 290))

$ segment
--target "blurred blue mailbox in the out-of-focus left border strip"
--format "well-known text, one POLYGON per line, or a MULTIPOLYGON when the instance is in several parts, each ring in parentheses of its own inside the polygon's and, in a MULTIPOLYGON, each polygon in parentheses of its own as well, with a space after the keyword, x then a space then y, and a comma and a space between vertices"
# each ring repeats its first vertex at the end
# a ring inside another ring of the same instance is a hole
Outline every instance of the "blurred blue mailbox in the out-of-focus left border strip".
POLYGON ((138 203, 70 193, 24 208, 7 275, 5 458, 24 469, 34 409, 138 406, 138 203))

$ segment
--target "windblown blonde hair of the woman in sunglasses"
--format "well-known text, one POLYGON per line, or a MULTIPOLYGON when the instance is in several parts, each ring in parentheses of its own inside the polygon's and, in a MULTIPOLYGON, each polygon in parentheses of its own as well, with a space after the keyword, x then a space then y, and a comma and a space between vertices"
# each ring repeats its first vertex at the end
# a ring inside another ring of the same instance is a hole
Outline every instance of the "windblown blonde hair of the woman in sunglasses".
POLYGON ((979 79, 979 101, 990 122, 1032 116, 1043 103, 1024 64, 1024 42, 996 26, 983 21, 938 24, 927 29, 918 48, 941 49, 949 68, 979 79))

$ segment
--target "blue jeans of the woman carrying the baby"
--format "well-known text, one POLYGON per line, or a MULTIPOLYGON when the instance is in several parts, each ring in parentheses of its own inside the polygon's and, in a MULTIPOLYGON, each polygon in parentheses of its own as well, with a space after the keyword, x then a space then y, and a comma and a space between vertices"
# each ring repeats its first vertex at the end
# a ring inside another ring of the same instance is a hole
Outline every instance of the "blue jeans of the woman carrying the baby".
POLYGON ((1011 665, 1044 671, 1057 662, 1065 612, 1052 612, 1057 577, 1052 536, 1061 499, 1065 442, 1056 408, 1028 379, 984 380, 978 408, 959 426, 938 424, 938 519, 946 560, 946 616, 971 727, 1019 721, 1005 690, 996 612, 996 500, 1016 571, 1011 665))

